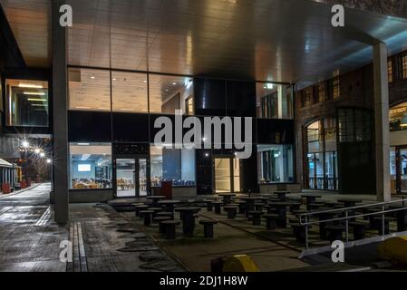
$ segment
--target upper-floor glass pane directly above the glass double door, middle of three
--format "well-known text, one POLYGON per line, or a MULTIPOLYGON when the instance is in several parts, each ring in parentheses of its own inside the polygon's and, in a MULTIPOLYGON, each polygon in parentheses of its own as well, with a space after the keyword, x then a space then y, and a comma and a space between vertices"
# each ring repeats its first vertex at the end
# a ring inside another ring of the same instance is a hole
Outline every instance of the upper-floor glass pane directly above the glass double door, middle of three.
POLYGON ((149 111, 146 73, 111 72, 113 111, 149 111))

